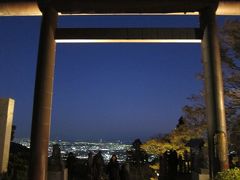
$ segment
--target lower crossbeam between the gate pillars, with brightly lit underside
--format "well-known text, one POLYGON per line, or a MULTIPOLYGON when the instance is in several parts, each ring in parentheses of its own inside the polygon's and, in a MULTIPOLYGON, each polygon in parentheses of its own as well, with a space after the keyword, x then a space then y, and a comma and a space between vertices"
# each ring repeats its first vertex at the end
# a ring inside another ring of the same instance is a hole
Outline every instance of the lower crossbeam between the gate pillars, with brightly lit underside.
POLYGON ((198 28, 58 28, 58 43, 198 42, 198 28))

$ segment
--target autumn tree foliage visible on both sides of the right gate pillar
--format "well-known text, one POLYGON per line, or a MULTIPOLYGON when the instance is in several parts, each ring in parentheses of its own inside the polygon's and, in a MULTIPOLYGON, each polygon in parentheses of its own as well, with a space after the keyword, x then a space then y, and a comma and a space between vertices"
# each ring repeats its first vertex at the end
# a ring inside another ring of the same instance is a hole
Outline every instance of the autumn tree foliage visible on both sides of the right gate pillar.
MULTIPOLYGON (((220 34, 221 56, 225 90, 225 107, 232 150, 240 153, 240 21, 226 21, 220 34)), ((203 80, 203 73, 197 75, 203 80)), ((168 149, 182 153, 191 138, 205 138, 207 134, 204 91, 191 95, 190 103, 183 107, 181 123, 169 134, 153 138, 142 145, 149 154, 162 154, 168 149), (184 123, 182 123, 184 120, 184 123), (179 126, 180 125, 180 126, 179 126)))

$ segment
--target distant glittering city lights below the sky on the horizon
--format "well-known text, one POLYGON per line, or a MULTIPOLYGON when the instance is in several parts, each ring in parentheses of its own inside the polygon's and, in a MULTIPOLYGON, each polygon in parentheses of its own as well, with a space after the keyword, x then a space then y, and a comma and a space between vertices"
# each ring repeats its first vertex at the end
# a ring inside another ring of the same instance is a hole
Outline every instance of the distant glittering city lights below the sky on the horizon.
MULTIPOLYGON (((14 142, 30 148, 30 139, 18 138, 14 142)), ((121 141, 116 142, 82 142, 82 141, 63 141, 55 140, 49 142, 48 155, 52 154, 52 147, 54 144, 59 144, 63 159, 67 158, 68 153, 72 152, 79 159, 87 159, 88 153, 102 152, 105 162, 108 162, 113 154, 116 154, 120 162, 125 161, 126 151, 131 149, 131 145, 124 144, 121 141)))

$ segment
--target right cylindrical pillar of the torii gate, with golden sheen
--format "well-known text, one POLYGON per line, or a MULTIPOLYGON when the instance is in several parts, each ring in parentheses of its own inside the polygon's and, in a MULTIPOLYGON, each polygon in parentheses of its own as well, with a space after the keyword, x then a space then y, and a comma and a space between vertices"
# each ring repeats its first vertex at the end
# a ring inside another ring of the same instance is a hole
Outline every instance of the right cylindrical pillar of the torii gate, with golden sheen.
POLYGON ((215 11, 215 8, 209 7, 200 12, 211 178, 214 178, 217 172, 229 168, 221 54, 215 11))

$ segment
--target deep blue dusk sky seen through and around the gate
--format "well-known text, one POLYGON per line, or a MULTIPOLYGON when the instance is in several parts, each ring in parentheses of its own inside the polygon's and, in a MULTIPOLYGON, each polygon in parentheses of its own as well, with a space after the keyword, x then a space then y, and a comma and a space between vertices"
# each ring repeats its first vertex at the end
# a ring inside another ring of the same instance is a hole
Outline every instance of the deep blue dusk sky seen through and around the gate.
MULTIPOLYGON (((31 131, 40 17, 0 17, 0 97, 31 131)), ((221 19, 222 22, 222 19, 221 19)), ((196 27, 197 17, 60 17, 59 27, 196 27)), ((202 88, 199 44, 58 44, 51 138, 133 140, 169 132, 202 88)))

